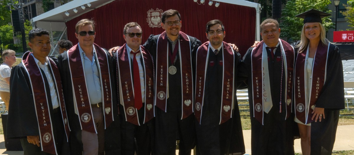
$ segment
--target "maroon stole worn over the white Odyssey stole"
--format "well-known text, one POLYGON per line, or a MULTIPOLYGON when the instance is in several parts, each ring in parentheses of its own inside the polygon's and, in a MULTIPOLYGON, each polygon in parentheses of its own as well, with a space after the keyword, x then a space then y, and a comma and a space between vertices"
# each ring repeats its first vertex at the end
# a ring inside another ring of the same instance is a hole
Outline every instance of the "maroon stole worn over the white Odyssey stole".
MULTIPOLYGON (((263 66, 262 66, 262 54, 264 42, 261 41, 255 48, 253 48, 251 53, 251 65, 252 65, 252 95, 253 95, 253 117, 256 118, 263 125, 263 66)), ((279 39, 279 48, 281 48, 282 59, 284 62, 285 69, 285 79, 282 85, 286 82, 285 90, 282 90, 282 94, 285 92, 285 106, 286 106, 286 117, 285 120, 290 116, 291 112, 291 99, 292 99, 292 87, 293 87, 293 66, 294 66, 294 48, 289 45, 284 40, 279 39)), ((281 82, 281 81, 279 81, 281 82)), ((271 97, 271 96, 270 96, 271 97)), ((282 102, 282 101, 280 101, 282 102)), ((251 103, 250 103, 251 104, 251 103)), ((280 106, 284 105, 280 103, 280 106)), ((281 113, 282 111, 279 111, 281 113)))

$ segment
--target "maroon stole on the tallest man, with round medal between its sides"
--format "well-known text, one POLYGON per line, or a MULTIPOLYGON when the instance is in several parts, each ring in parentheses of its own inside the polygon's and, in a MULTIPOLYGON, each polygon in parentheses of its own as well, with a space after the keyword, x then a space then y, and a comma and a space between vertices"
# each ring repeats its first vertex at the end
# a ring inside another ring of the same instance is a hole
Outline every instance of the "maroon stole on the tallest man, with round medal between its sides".
MULTIPOLYGON (((179 61, 181 65, 182 85, 182 118, 193 113, 193 79, 192 79, 192 50, 189 38, 179 31, 179 39, 175 48, 179 46, 179 61)), ((156 82, 155 82, 155 105, 166 112, 167 106, 167 82, 169 68, 169 48, 166 31, 157 41, 156 48, 156 82)), ((170 81, 173 82, 173 81, 170 81)), ((171 92, 173 93, 173 92, 171 92)))

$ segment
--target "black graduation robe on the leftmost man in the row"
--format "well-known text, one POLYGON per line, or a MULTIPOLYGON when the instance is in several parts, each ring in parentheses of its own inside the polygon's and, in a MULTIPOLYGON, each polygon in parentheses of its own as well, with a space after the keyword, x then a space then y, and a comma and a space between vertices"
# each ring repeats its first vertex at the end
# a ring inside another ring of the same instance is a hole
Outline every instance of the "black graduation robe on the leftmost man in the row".
MULTIPOLYGON (((56 57, 51 58, 56 64, 58 63, 58 59, 56 57)), ((43 71, 42 75, 44 76, 43 78, 45 78, 44 81, 47 90, 47 98, 50 99, 51 97, 49 84, 43 71)), ((62 125, 63 122, 57 122, 57 120, 55 120, 51 100, 48 100, 48 105, 51 114, 53 133, 56 140, 56 148, 58 154, 61 154, 62 151, 67 151, 69 149, 68 144, 64 144, 67 143, 67 139, 64 126, 62 125), (59 126, 61 128, 59 128, 59 126)), ((9 110, 7 117, 8 123, 6 138, 27 139, 27 136, 40 136, 36 110, 33 101, 32 87, 29 76, 27 74, 27 70, 22 63, 16 65, 11 70, 9 109, 11 110, 9 110)), ((63 119, 61 119, 61 121, 63 121, 63 119)))

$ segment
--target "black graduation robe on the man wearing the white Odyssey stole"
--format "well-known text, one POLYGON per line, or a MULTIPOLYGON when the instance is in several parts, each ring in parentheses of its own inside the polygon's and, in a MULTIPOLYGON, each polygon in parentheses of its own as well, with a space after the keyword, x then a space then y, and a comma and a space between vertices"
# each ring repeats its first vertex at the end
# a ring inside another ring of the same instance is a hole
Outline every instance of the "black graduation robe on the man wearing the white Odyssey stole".
MULTIPOLYGON (((280 46, 280 45, 279 45, 280 46)), ((253 47, 249 48, 243 57, 243 61, 239 68, 239 77, 248 78, 246 80, 249 92, 250 101, 250 117, 251 117, 251 150, 253 155, 293 155, 294 140, 293 140, 293 125, 294 116, 286 117, 286 106, 282 107, 282 113, 279 113, 280 102, 280 81, 281 81, 281 56, 280 48, 276 49, 274 61, 271 53, 268 52, 268 69, 270 91, 272 94, 273 107, 269 113, 264 113, 264 125, 253 117, 253 93, 252 93, 252 67, 251 67, 251 52, 253 47), (280 61, 279 61, 280 60, 280 61)), ((261 63, 261 62, 260 62, 261 63)), ((283 74, 285 70, 283 69, 283 74)), ((283 76, 282 90, 285 90, 285 76, 283 76)), ((282 93, 282 103, 285 102, 285 92, 282 93)))

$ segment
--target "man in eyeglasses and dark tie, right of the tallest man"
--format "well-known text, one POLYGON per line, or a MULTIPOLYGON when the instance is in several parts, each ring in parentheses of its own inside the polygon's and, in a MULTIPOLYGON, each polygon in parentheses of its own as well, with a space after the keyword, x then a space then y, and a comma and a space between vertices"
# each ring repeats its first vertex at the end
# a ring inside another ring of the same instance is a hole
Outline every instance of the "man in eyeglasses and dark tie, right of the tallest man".
POLYGON ((195 54, 196 154, 244 154, 236 99, 240 54, 223 41, 221 21, 206 24, 206 37, 195 54))

